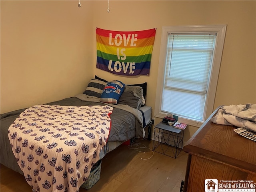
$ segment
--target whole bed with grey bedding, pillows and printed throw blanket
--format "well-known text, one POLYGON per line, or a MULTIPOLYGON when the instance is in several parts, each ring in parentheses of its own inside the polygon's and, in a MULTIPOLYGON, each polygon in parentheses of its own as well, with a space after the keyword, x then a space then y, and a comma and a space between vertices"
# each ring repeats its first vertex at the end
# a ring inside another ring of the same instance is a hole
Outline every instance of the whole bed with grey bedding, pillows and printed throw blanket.
POLYGON ((40 189, 78 191, 90 169, 106 153, 127 140, 147 137, 150 133, 152 109, 143 102, 145 84, 123 84, 117 100, 109 95, 102 98, 104 89, 112 88, 110 83, 113 81, 106 82, 96 77, 83 94, 1 114, 1 164, 24 174, 34 192, 40 189), (60 118, 59 114, 62 114, 60 118), (86 120, 83 119, 85 114, 89 115, 86 120), (89 127, 90 123, 93 126, 89 127), (98 125, 102 127, 97 131, 99 135, 94 136, 93 131, 98 125), (15 134, 17 130, 23 135, 15 134), (87 132, 89 130, 92 132, 87 132), (50 137, 45 138, 45 135, 50 137), (88 138, 92 137, 100 142, 87 144, 88 138))

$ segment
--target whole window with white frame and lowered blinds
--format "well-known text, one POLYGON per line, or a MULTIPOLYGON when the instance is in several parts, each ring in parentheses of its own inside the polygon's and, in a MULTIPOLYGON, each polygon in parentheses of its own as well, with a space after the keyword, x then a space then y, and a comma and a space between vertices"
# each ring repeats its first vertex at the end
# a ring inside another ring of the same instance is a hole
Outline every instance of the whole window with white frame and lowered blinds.
POLYGON ((226 25, 163 27, 155 116, 200 126, 213 110, 226 25))

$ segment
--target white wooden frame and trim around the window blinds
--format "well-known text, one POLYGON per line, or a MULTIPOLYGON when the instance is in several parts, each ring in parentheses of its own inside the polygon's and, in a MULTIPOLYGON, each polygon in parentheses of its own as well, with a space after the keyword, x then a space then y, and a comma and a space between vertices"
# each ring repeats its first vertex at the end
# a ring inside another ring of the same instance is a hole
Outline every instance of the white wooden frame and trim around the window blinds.
POLYGON ((188 125, 200 127, 203 122, 212 114, 216 88, 218 83, 218 75, 220 71, 220 63, 227 25, 196 25, 196 26, 163 26, 162 39, 159 56, 158 79, 156 88, 156 103, 154 116, 164 118, 167 114, 161 112, 162 106, 162 90, 164 89, 164 76, 166 68, 167 43, 169 33, 216 33, 216 45, 213 54, 212 66, 210 68, 210 78, 208 81, 208 89, 206 94, 206 104, 204 108, 204 116, 202 121, 190 120, 179 117, 179 121, 188 125))

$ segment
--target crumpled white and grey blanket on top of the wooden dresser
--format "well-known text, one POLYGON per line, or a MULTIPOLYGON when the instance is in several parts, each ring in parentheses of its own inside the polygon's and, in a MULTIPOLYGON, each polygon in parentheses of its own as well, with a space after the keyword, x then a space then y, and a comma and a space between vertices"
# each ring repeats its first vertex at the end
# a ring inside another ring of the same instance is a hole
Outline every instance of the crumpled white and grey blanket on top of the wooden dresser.
POLYGON ((256 132, 256 104, 221 106, 211 121, 216 124, 245 127, 256 132))

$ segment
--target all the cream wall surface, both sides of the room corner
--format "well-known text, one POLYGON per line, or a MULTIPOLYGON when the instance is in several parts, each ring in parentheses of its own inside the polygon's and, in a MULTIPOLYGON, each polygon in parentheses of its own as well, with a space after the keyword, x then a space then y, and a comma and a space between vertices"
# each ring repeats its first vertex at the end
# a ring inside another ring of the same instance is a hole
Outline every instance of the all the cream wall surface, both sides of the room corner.
POLYGON ((154 110, 162 26, 177 25, 227 24, 214 108, 256 103, 256 1, 110 0, 110 13, 106 0, 80 2, 1 0, 1 113, 82 93, 95 74, 147 82, 154 110), (96 69, 96 27, 157 28, 150 76, 96 69))

